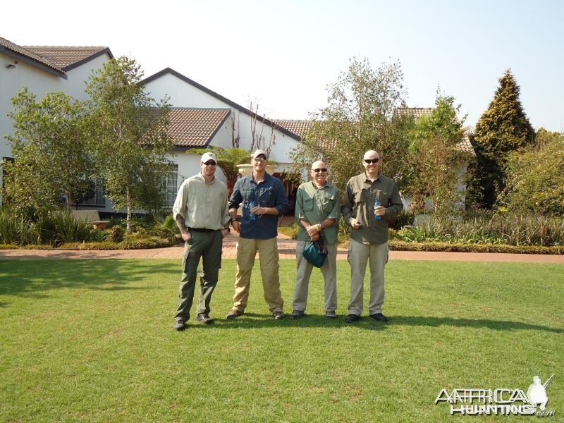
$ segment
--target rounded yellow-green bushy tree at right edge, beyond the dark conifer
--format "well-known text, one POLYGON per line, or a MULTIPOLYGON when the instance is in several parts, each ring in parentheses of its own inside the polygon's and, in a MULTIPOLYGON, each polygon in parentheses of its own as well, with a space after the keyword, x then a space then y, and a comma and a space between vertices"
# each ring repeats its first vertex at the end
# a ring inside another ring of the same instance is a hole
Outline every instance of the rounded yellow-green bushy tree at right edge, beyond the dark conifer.
POLYGON ((510 211, 564 216, 564 134, 539 129, 535 145, 512 152, 501 204, 510 211))

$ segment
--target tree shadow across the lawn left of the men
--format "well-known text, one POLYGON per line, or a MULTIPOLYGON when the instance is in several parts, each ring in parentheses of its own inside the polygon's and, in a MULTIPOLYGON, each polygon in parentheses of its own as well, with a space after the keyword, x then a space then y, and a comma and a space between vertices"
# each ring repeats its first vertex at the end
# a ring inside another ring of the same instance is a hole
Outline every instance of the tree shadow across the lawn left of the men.
POLYGON ((176 262, 105 259, 49 260, 49 265, 45 264, 43 260, 2 262, 0 295, 41 298, 47 291, 59 288, 149 290, 153 288, 131 283, 145 278, 175 278, 179 274, 176 262))

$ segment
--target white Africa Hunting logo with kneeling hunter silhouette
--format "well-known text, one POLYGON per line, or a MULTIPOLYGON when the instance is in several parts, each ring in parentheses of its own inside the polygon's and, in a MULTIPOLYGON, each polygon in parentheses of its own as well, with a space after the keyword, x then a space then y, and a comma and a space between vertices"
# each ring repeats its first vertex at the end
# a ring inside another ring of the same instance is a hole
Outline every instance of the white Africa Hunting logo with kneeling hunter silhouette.
POLYGON ((541 378, 534 376, 527 393, 522 389, 484 389, 457 388, 448 391, 446 388, 435 399, 436 403, 449 403, 450 414, 461 415, 537 415, 553 417, 554 410, 546 410, 548 395, 546 388, 554 380, 550 376, 544 384, 541 378))

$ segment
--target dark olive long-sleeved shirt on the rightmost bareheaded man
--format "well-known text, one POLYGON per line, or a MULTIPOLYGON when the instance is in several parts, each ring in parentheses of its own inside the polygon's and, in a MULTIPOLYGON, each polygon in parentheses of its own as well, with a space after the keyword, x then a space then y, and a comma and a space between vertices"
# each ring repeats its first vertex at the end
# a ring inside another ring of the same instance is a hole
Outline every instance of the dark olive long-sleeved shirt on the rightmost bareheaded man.
POLYGON ((379 175, 372 182, 366 173, 361 173, 349 179, 341 213, 348 226, 351 226, 351 219, 357 219, 362 224, 359 229, 353 228, 351 239, 363 244, 384 244, 388 242, 388 220, 402 209, 403 203, 393 179, 379 175), (374 219, 376 190, 380 190, 381 205, 386 207, 386 214, 380 220, 374 219))

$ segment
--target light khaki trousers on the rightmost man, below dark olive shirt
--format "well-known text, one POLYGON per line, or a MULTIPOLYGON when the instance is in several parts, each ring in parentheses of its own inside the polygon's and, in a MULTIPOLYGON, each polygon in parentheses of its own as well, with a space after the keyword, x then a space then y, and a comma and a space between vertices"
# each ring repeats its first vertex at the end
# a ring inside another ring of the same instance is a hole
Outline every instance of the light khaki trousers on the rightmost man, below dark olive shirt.
POLYGON ((388 243, 362 244, 350 240, 348 249, 350 264, 350 302, 349 314, 362 314, 362 294, 367 262, 370 265, 369 314, 381 313, 384 304, 384 266, 388 262, 388 243))

